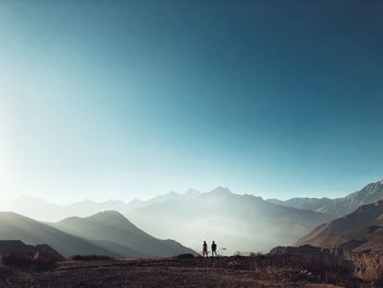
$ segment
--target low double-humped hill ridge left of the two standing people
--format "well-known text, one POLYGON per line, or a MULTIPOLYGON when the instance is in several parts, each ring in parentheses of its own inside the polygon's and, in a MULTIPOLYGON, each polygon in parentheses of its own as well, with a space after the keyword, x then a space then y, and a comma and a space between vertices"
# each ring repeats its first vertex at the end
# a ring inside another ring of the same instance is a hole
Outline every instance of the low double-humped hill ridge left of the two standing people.
POLYGON ((30 245, 48 244, 66 257, 76 254, 117 257, 196 254, 175 241, 147 234, 116 211, 69 218, 58 223, 43 223, 14 212, 0 212, 0 240, 20 240, 30 245))

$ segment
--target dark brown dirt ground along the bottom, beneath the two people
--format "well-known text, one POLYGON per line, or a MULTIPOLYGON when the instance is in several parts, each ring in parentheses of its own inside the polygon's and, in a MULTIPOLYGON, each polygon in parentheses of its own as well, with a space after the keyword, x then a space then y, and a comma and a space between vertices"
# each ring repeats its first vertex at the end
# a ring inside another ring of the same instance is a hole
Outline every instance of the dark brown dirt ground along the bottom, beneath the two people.
MULTIPOLYGON (((353 286, 343 283, 345 280, 340 276, 336 278, 327 274, 315 275, 292 266, 276 267, 267 260, 256 257, 63 261, 48 272, 8 270, 2 276, 0 273, 0 287, 353 286)), ((355 284, 355 287, 371 287, 355 284)))

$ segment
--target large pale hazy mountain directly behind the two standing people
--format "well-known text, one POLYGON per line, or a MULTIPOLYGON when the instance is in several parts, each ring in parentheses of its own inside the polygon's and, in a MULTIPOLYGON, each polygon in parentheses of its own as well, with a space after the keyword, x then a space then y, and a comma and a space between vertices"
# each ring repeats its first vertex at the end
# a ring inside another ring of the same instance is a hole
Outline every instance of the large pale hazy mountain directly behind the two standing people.
POLYGON ((216 240, 219 247, 227 249, 220 253, 228 254, 291 244, 329 219, 323 214, 274 205, 222 187, 189 200, 149 205, 128 216, 155 237, 171 237, 196 250, 200 250, 204 240, 216 240))

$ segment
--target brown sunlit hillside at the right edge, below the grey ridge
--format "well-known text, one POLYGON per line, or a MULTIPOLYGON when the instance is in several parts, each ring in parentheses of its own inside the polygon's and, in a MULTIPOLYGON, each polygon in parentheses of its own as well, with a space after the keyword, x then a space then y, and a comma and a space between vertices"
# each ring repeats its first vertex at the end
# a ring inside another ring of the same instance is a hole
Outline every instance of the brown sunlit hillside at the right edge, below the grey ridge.
POLYGON ((352 214, 315 228, 295 243, 304 244, 383 252, 383 200, 363 205, 352 214))

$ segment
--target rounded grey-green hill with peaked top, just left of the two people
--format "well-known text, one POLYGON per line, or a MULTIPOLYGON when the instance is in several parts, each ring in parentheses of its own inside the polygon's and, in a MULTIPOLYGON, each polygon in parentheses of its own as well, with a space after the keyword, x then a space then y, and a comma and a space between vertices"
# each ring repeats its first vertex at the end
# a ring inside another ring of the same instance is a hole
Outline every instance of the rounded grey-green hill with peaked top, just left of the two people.
MULTIPOLYGON (((153 219, 155 217, 152 221, 153 219)), ((85 218, 71 217, 54 226, 109 250, 117 250, 125 256, 167 257, 182 253, 196 254, 173 240, 160 240, 143 232, 117 211, 103 211, 85 218)))

